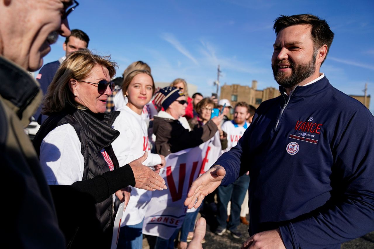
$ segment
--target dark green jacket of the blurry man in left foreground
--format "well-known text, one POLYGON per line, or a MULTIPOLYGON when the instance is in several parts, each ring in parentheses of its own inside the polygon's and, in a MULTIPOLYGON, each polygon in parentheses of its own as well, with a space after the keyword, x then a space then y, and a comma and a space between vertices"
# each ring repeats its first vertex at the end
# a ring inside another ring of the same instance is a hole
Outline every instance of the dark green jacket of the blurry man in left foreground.
POLYGON ((3 248, 64 248, 39 159, 24 127, 42 98, 24 69, 0 56, 1 198, 3 248))

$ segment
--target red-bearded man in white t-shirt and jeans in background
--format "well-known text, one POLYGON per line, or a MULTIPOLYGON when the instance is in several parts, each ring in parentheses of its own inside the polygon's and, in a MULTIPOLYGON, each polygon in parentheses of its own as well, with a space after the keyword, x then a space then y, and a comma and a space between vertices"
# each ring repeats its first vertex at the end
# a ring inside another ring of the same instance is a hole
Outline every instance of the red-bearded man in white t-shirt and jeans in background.
MULTIPOLYGON (((239 102, 234 108, 234 119, 224 122, 221 129, 227 133, 227 149, 229 151, 236 146, 237 141, 243 136, 244 131, 248 128, 249 123, 246 120, 249 118, 249 106, 245 102, 239 102)), ((232 184, 228 186, 218 187, 218 227, 216 234, 222 235, 226 228, 236 239, 239 239, 241 234, 237 230, 240 223, 240 210, 243 203, 246 191, 249 185, 249 174, 242 175, 232 184), (231 212, 229 222, 227 223, 227 205, 231 201, 231 212)))

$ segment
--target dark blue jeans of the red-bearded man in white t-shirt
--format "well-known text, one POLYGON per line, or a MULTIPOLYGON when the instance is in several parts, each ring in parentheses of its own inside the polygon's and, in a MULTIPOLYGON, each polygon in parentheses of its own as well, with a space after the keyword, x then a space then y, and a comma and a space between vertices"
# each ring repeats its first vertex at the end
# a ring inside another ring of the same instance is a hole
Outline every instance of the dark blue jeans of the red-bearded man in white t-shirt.
POLYGON ((218 187, 217 221, 221 228, 235 230, 240 224, 240 210, 249 186, 249 175, 242 175, 228 186, 218 187), (227 224, 227 204, 231 200, 231 215, 227 224))

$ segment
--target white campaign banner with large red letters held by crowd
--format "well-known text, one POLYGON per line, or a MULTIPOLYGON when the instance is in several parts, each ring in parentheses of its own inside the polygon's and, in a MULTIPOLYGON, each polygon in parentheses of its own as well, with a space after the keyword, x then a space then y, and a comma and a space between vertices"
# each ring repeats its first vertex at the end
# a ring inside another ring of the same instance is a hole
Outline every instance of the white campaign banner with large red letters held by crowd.
POLYGON ((198 147, 169 154, 160 171, 167 190, 152 192, 143 223, 143 234, 169 239, 183 223, 184 200, 191 183, 207 171, 221 155, 219 133, 198 147))

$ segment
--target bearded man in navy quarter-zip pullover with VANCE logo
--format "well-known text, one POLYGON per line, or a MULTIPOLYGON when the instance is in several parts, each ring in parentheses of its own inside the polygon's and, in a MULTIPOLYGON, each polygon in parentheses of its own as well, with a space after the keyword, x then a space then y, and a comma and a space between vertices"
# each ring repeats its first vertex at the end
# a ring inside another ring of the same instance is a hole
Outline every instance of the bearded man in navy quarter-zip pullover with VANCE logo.
POLYGON ((194 181, 185 204, 199 206, 249 170, 244 248, 340 248, 374 230, 374 118, 320 72, 334 37, 325 20, 281 16, 274 30, 281 96, 261 103, 237 146, 194 181))

